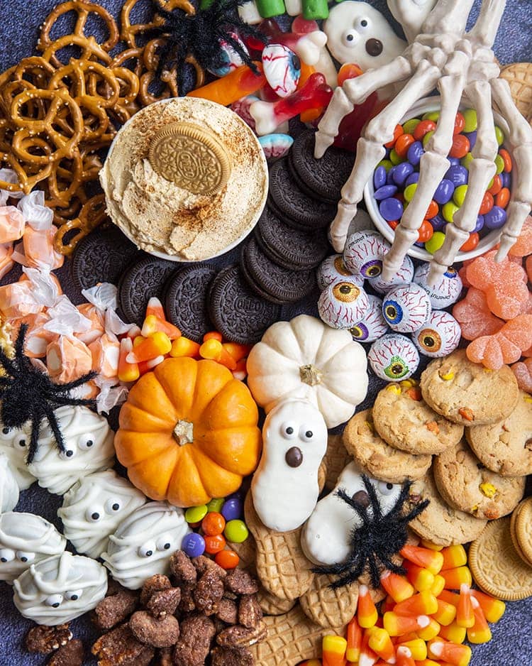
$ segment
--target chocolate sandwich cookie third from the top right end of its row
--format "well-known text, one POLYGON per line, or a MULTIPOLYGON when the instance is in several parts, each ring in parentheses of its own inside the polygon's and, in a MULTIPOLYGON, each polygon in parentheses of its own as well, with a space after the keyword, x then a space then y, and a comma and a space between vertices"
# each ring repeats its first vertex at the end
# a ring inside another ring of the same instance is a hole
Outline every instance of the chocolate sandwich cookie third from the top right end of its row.
POLYGON ((308 234, 294 229, 268 207, 262 211, 255 226, 255 238, 266 256, 293 271, 315 268, 328 252, 325 231, 308 234))

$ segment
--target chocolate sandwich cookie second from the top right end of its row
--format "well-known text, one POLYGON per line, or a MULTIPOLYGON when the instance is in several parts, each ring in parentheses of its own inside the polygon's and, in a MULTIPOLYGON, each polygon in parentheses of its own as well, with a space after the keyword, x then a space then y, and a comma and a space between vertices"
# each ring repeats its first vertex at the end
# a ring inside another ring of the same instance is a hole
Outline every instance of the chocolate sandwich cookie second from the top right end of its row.
POLYGON ((270 169, 270 207, 279 217, 297 229, 315 231, 333 222, 336 206, 311 199, 301 192, 289 172, 287 158, 278 160, 270 169))

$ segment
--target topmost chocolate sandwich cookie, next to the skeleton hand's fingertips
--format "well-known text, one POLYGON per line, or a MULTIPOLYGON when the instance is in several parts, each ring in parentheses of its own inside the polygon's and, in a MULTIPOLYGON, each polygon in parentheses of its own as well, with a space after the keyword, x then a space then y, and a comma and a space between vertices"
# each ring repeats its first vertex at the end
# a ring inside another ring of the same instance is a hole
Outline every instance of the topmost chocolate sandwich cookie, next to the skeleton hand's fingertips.
POLYGON ((289 169, 297 185, 309 196, 336 203, 353 170, 355 155, 331 146, 318 160, 314 157, 315 135, 315 131, 309 130, 297 137, 289 153, 289 169))

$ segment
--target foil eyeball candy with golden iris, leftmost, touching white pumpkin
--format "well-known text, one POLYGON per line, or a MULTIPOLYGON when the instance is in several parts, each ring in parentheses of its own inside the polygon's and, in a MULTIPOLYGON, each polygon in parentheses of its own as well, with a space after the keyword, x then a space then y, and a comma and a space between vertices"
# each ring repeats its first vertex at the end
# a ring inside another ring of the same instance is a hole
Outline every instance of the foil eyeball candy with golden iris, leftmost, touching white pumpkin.
POLYGON ((350 328, 360 322, 370 302, 367 294, 352 280, 333 282, 318 299, 318 312, 332 328, 350 328))

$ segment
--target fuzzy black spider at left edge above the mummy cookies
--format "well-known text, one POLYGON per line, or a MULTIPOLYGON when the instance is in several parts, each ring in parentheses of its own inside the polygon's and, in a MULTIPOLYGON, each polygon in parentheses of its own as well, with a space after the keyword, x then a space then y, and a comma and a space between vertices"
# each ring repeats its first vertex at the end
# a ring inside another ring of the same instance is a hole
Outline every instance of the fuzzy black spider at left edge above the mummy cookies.
POLYGON ((65 451, 65 440, 53 410, 62 405, 94 406, 94 400, 72 398, 70 391, 72 388, 82 386, 96 376, 96 373, 89 372, 74 381, 55 384, 24 354, 27 329, 27 324, 22 324, 18 330, 13 359, 0 349, 0 368, 4 371, 0 376, 0 420, 4 427, 8 428, 20 428, 27 421, 31 421, 31 439, 26 458, 26 463, 29 464, 37 452, 40 423, 43 418, 46 418, 50 424, 57 447, 60 451, 65 451))

